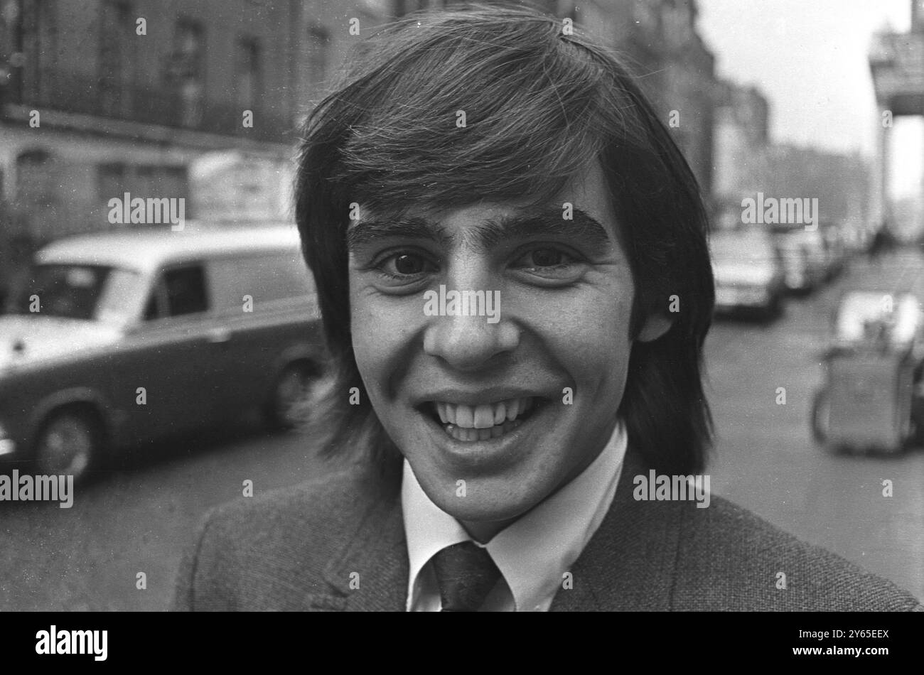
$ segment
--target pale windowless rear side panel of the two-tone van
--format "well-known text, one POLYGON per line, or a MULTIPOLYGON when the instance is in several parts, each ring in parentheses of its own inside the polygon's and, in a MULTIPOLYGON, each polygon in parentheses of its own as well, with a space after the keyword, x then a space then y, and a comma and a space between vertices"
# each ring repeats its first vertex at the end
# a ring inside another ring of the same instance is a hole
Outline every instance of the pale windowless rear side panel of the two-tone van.
POLYGON ((314 292, 308 267, 298 248, 272 254, 252 254, 209 262, 213 302, 219 311, 240 311, 244 297, 253 306, 314 292))

